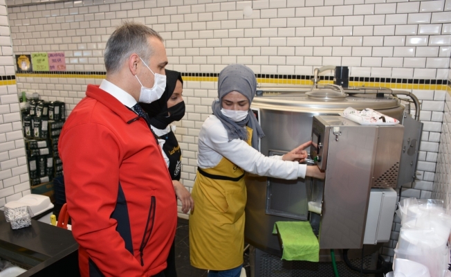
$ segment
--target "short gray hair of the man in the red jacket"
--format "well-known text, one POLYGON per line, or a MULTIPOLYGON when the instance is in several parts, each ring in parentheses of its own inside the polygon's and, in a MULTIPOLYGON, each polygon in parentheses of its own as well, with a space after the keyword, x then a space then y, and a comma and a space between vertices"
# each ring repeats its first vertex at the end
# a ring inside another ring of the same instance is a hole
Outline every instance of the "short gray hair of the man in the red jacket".
POLYGON ((149 37, 156 37, 163 42, 160 34, 143 24, 125 21, 118 26, 105 47, 104 61, 107 73, 117 73, 132 53, 138 54, 147 64, 154 53, 154 48, 147 41, 149 37))

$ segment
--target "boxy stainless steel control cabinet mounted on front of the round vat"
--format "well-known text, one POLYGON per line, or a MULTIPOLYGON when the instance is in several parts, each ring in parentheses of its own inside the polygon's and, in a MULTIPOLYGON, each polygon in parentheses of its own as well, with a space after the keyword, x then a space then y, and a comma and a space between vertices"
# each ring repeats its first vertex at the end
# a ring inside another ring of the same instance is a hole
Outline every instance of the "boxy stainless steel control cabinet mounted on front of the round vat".
MULTIPOLYGON (((314 116, 312 133, 317 139, 311 155, 326 170, 322 197, 312 199, 322 206, 320 249, 360 249, 371 187, 396 187, 404 126, 359 125, 341 116, 314 116)), ((311 223, 315 215, 311 213, 311 223)))

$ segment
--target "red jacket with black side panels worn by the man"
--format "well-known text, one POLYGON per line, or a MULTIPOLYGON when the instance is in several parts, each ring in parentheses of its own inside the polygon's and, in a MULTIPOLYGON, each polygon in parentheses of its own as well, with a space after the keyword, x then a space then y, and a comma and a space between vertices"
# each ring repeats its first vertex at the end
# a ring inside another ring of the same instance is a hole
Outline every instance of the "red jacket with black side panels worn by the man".
POLYGON ((144 118, 98 86, 68 116, 59 137, 82 276, 152 276, 174 240, 171 177, 144 118))

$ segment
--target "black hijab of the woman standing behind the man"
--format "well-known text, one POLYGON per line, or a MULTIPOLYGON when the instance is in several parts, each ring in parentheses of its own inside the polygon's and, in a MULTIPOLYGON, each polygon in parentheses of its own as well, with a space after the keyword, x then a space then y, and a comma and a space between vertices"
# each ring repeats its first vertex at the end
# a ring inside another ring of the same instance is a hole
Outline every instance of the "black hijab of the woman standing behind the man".
MULTIPOLYGON (((149 114, 150 124, 158 129, 165 129, 168 122, 167 100, 171 98, 174 89, 176 89, 177 80, 183 84, 182 75, 178 71, 165 69, 166 71, 166 89, 160 99, 149 104, 140 102, 139 105, 149 114)), ((179 103, 180 104, 180 103, 179 103)), ((177 104, 178 105, 178 104, 177 104)))

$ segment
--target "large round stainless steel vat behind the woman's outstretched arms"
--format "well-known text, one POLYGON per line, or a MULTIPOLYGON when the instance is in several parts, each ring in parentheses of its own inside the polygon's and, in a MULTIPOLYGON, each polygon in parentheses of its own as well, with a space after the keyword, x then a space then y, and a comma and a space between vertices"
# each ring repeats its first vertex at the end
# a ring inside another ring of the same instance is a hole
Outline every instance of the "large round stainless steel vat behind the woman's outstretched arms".
MULTIPOLYGON (((350 93, 349 91, 345 91, 350 93)), ((353 91, 356 93, 357 91, 353 91)), ((387 116, 391 116, 403 122, 404 107, 396 96, 385 95, 376 97, 375 94, 354 95, 337 100, 321 100, 309 98, 299 89, 296 91, 277 92, 272 89, 266 93, 258 93, 252 102, 252 109, 257 109, 259 122, 266 137, 261 139, 261 152, 268 156, 272 152, 288 152, 305 141, 311 140, 311 129, 313 116, 315 115, 338 115, 347 107, 355 109, 365 109, 367 107, 380 111, 387 116)), ((315 182, 320 182, 315 180, 315 182)), ((286 199, 280 193, 274 195, 279 197, 277 201, 271 202, 270 210, 288 211, 288 215, 276 215, 267 213, 268 196, 267 190, 270 184, 273 188, 279 186, 286 187, 286 180, 279 180, 266 177, 248 175, 246 186, 248 189, 248 202, 246 206, 246 229, 245 238, 253 246, 277 256, 281 255, 281 247, 277 236, 272 234, 273 226, 280 220, 307 220, 308 201, 306 197, 297 197, 297 191, 302 191, 303 195, 311 195, 312 180, 297 179, 291 181, 291 186, 295 190, 288 190, 291 199, 286 199), (285 206, 285 207, 284 207, 285 206), (291 208, 291 209, 290 209, 291 208), (295 216, 290 213, 296 214, 295 216)), ((324 184, 323 184, 324 186, 324 184)), ((280 191, 280 190, 279 190, 280 191)), ((276 199, 276 198, 273 198, 276 199)))

